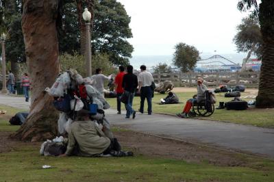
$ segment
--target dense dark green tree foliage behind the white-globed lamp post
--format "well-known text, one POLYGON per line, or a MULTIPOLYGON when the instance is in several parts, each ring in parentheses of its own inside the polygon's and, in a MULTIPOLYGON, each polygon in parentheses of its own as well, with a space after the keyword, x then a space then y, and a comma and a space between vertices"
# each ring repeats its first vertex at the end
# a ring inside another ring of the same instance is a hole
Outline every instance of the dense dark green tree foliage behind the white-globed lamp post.
MULTIPOLYGON (((63 6, 63 31, 60 36, 60 52, 80 50, 80 32, 77 4, 63 6)), ((124 6, 116 0, 95 1, 95 18, 92 27, 92 53, 107 53, 113 64, 129 64, 133 47, 127 41, 132 38, 130 17, 124 6)))

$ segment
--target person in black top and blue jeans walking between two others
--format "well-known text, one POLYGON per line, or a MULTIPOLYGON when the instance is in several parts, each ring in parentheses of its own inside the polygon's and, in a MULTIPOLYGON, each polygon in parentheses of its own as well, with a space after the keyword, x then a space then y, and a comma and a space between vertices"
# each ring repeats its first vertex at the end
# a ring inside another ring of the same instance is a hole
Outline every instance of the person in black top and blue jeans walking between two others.
POLYGON ((127 103, 125 103, 125 109, 127 109, 127 114, 125 118, 129 118, 132 115, 132 118, 135 118, 136 111, 132 109, 132 101, 134 98, 135 90, 138 86, 138 78, 133 74, 133 66, 127 66, 127 74, 123 77, 122 86, 125 94, 127 95, 127 103))

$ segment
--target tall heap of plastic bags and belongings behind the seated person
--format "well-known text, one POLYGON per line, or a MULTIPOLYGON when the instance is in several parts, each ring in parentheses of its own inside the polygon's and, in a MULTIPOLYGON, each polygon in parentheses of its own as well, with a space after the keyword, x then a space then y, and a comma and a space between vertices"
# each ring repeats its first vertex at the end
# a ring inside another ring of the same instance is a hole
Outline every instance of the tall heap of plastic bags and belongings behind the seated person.
POLYGON ((60 111, 58 120, 59 133, 65 132, 66 123, 74 120, 77 112, 81 109, 90 111, 95 120, 101 118, 102 124, 110 129, 108 123, 103 122, 103 109, 110 108, 110 105, 101 93, 92 86, 94 83, 95 81, 90 79, 90 77, 83 79, 76 70, 67 70, 58 75, 51 88, 45 89, 49 95, 53 96, 55 109, 60 111))

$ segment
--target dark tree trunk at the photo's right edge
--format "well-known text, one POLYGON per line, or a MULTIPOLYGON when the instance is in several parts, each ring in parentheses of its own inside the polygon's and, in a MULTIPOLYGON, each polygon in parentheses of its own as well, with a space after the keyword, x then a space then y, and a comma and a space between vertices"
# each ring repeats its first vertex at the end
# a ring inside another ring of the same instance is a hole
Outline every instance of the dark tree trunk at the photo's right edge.
POLYGON ((262 0, 260 25, 263 40, 262 67, 256 107, 274 107, 274 1, 262 0))

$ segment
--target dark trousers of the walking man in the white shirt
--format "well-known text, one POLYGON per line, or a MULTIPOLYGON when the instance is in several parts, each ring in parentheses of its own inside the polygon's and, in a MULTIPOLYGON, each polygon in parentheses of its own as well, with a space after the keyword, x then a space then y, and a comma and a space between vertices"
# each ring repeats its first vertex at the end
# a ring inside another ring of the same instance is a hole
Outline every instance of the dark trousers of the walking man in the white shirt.
POLYGON ((140 90, 140 112, 144 112, 144 104, 145 104, 145 99, 147 99, 147 112, 151 114, 152 112, 152 104, 151 104, 151 99, 152 99, 152 90, 150 86, 147 87, 142 87, 140 90))

